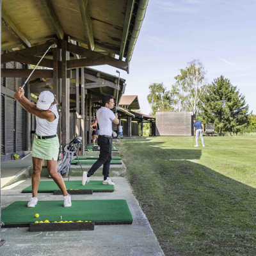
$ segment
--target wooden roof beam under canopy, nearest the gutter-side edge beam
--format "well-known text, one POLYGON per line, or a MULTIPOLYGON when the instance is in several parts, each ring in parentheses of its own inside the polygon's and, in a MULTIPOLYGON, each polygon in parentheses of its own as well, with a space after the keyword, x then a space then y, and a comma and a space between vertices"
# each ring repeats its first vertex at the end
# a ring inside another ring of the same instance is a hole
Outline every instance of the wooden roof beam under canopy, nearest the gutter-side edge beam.
POLYGON ((88 48, 93 51, 94 39, 93 39, 93 28, 92 28, 92 20, 90 15, 89 1, 78 0, 78 2, 80 6, 81 17, 83 20, 83 26, 84 26, 87 45, 88 45, 88 48))

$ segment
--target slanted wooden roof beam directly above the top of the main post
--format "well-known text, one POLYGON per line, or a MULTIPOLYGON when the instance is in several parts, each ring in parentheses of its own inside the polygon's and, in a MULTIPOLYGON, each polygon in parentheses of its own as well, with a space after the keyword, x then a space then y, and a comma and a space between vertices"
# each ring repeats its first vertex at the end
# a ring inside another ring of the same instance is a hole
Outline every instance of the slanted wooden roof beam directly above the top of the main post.
POLYGON ((64 31, 60 24, 60 20, 58 19, 58 16, 56 15, 56 12, 54 11, 51 0, 40 0, 40 2, 42 4, 42 6, 44 7, 44 10, 48 16, 48 19, 51 21, 52 28, 54 29, 58 39, 63 39, 64 31))

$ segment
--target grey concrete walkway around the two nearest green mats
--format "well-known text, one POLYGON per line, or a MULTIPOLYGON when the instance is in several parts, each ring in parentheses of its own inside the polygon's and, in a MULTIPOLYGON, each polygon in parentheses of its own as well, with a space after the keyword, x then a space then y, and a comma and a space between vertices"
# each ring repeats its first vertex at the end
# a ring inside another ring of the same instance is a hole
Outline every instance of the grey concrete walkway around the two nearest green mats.
MULTIPOLYGON (((100 180, 92 177, 92 180, 100 180)), ((42 180, 49 180, 42 178, 42 180)), ((66 180, 66 179, 65 179, 66 180)), ((81 180, 81 177, 70 177, 81 180)), ((164 255, 141 210, 132 194, 131 187, 124 177, 113 177, 114 193, 93 193, 93 195, 73 195, 73 200, 125 199, 129 205, 132 225, 95 226, 94 231, 79 232, 38 232, 30 233, 28 228, 3 228, 2 239, 6 243, 0 255, 16 256, 162 256, 164 255)), ((31 195, 20 193, 31 184, 30 178, 1 189, 2 209, 14 201, 28 201, 31 195)), ((62 200, 62 196, 40 193, 39 200, 62 200)), ((51 211, 51 209, 49 209, 51 211)), ((38 212, 40 214, 40 212, 38 212)))

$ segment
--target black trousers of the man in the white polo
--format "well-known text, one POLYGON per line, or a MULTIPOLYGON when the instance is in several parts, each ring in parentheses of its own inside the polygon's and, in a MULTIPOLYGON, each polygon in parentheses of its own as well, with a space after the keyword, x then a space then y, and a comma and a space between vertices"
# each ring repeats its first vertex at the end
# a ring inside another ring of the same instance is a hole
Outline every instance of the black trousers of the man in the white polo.
POLYGON ((104 176, 104 180, 106 180, 109 177, 109 166, 112 159, 112 139, 104 136, 99 136, 98 145, 100 146, 100 157, 93 164, 92 168, 90 168, 87 177, 93 175, 93 173, 95 173, 103 164, 102 175, 104 176))

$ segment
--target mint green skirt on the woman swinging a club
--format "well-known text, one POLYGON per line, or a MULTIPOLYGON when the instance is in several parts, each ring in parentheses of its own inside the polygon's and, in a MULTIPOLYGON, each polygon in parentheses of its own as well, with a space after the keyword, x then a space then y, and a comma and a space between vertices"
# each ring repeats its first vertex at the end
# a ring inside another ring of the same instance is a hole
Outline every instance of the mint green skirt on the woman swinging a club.
POLYGON ((60 143, 58 136, 55 138, 40 140, 34 138, 32 146, 32 157, 45 160, 58 160, 60 143))

